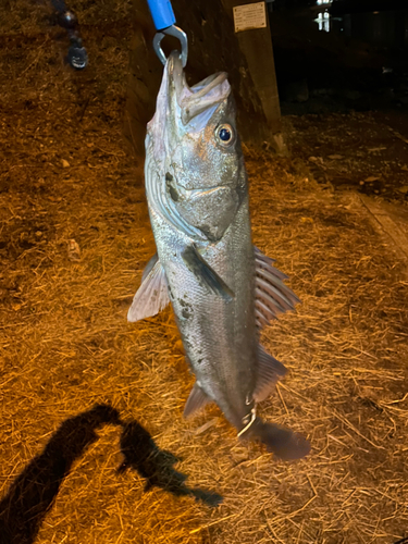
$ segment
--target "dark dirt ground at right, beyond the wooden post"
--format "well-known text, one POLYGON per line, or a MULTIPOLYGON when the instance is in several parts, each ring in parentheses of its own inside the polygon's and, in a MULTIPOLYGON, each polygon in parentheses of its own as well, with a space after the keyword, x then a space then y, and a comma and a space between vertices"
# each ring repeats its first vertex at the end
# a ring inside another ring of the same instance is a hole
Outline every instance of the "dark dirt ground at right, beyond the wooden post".
POLYGON ((334 190, 408 203, 408 111, 284 118, 292 153, 334 190))

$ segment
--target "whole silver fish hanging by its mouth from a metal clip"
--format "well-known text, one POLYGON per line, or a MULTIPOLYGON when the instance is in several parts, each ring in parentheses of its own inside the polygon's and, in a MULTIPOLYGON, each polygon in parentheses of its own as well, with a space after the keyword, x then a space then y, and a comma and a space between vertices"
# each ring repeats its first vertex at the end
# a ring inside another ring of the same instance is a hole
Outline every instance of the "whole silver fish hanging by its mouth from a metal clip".
POLYGON ((173 307, 196 383, 184 416, 215 403, 242 438, 276 458, 299 459, 309 442, 263 421, 285 367, 260 345, 263 326, 299 301, 285 274, 254 246, 248 177, 236 107, 224 72, 189 86, 172 52, 147 125, 145 184, 157 252, 127 319, 173 307))

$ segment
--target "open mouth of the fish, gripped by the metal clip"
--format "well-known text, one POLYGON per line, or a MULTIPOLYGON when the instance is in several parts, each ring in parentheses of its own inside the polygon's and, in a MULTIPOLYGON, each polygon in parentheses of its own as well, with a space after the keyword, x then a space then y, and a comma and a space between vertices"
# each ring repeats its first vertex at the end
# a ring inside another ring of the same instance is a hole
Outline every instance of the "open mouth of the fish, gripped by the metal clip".
POLYGON ((187 84, 178 51, 173 51, 168 59, 168 92, 174 107, 181 110, 183 125, 189 124, 195 118, 215 111, 231 94, 231 87, 225 72, 210 75, 190 87, 187 84), (174 103, 176 102, 176 103, 174 103))

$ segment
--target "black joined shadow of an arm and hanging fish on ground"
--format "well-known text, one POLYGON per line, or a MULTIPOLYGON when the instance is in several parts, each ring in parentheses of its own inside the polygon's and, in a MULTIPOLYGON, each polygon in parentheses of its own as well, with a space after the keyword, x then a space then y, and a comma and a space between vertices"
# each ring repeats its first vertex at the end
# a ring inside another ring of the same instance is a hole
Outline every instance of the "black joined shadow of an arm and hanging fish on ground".
POLYGON ((65 420, 42 453, 34 457, 11 484, 0 502, 0 544, 34 543, 74 461, 98 440, 96 431, 106 424, 122 426, 124 461, 119 472, 129 467, 147 479, 147 489, 156 485, 176 496, 194 496, 210 506, 221 503, 220 495, 189 490, 185 485, 187 477, 173 468, 177 458, 161 450, 139 423, 124 423, 118 410, 109 405, 97 405, 65 420))

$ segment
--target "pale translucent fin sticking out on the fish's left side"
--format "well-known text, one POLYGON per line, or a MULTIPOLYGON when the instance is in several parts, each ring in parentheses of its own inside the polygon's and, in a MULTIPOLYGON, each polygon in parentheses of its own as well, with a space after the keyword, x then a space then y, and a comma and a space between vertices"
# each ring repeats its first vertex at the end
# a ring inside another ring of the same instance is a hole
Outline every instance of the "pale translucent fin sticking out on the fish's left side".
POLYGON ((164 269, 156 254, 146 265, 141 285, 127 312, 127 321, 151 318, 168 306, 169 301, 164 269))

